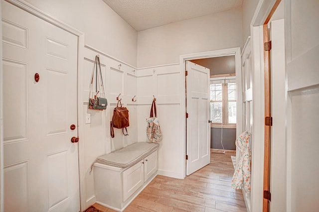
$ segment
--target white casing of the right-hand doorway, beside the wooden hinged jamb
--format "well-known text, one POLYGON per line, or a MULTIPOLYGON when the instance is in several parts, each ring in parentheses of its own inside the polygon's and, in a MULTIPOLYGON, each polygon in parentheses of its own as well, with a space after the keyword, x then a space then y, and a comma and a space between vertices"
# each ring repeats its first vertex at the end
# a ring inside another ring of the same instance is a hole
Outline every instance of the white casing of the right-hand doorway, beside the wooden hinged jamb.
MULTIPOLYGON (((252 145, 252 194, 251 211, 263 211, 264 190, 264 141, 265 141, 265 61, 263 25, 268 23, 280 0, 259 0, 250 23, 253 41, 254 69, 253 142, 252 145)), ((271 98, 271 97, 270 97, 271 98)))

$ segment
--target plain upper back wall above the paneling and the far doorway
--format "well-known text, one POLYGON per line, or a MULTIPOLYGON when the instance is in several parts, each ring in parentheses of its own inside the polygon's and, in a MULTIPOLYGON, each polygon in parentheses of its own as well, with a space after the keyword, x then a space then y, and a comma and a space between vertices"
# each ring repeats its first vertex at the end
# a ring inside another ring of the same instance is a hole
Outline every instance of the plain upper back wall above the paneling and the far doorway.
POLYGON ((138 67, 179 62, 179 55, 242 47, 241 8, 138 32, 138 67))

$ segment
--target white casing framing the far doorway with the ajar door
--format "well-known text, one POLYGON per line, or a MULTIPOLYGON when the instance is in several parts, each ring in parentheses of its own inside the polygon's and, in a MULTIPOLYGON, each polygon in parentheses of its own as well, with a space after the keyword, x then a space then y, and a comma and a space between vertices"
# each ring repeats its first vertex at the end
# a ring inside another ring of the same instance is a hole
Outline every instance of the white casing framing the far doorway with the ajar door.
POLYGON ((185 54, 179 56, 179 67, 180 67, 180 125, 183 126, 180 130, 180 142, 181 148, 179 151, 182 151, 181 155, 184 157, 184 178, 186 177, 186 93, 185 93, 185 61, 186 60, 196 60, 204 59, 211 57, 222 57, 222 56, 235 56, 235 73, 236 73, 236 83, 237 83, 237 125, 236 125, 236 136, 242 132, 242 85, 241 85, 241 57, 240 57, 240 47, 229 48, 229 49, 220 49, 207 52, 199 52, 192 54, 185 54), (238 104, 240 103, 240 104, 238 104))

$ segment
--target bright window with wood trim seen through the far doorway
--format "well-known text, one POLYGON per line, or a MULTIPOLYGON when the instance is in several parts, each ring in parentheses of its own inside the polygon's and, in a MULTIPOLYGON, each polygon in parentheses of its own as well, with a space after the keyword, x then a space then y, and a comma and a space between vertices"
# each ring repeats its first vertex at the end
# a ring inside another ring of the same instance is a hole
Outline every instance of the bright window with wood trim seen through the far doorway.
MULTIPOLYGON (((227 78, 226 78, 227 79, 227 78)), ((236 127, 237 109, 235 80, 218 80, 210 82, 210 120, 212 126, 225 125, 236 127)))

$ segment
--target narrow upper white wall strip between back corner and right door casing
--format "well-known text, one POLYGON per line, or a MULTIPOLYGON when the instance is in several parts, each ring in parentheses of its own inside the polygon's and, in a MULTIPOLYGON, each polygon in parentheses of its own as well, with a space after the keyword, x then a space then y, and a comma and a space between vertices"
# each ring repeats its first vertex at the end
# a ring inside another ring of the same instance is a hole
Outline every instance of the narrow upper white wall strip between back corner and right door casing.
POLYGON ((243 43, 246 42, 250 35, 250 22, 256 10, 259 0, 243 0, 242 3, 242 20, 243 20, 243 43))

